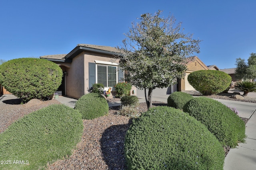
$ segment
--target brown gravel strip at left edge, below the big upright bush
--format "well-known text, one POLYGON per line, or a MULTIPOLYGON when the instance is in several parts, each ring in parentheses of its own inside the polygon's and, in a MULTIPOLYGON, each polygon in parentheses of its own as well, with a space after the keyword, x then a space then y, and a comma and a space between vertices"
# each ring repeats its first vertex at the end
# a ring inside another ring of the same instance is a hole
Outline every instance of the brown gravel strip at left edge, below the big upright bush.
POLYGON ((60 104, 60 102, 53 99, 44 101, 37 106, 27 107, 26 104, 21 105, 21 100, 13 95, 2 95, 0 98, 5 99, 0 103, 0 133, 2 133, 14 121, 28 113, 52 104, 60 104))

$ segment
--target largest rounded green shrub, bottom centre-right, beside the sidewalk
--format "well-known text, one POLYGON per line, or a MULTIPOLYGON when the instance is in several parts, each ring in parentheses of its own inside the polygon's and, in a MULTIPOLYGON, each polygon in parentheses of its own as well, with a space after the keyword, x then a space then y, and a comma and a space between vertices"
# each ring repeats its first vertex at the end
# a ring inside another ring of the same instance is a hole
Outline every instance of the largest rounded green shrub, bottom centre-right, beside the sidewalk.
POLYGON ((223 169, 224 149, 216 137, 173 107, 153 107, 133 119, 124 145, 128 169, 223 169))

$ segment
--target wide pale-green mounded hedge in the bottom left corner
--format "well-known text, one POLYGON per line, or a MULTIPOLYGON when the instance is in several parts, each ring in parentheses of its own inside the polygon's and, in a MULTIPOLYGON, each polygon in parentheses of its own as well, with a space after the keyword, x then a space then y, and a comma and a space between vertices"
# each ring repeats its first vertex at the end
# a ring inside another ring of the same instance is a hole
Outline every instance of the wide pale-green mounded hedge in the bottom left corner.
POLYGON ((0 169, 44 169, 71 155, 83 133, 81 114, 64 105, 51 105, 25 115, 0 134, 0 169), (24 164, 13 161, 24 160, 24 164))

